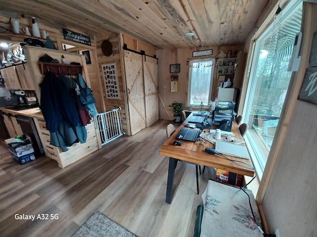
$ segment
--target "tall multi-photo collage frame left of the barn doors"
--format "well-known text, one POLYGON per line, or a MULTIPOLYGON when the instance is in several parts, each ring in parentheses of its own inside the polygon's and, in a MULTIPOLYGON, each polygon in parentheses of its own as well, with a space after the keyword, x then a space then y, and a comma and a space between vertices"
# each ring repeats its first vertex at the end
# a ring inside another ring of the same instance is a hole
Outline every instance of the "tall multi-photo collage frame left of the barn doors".
POLYGON ((115 63, 102 65, 102 71, 106 87, 106 98, 120 99, 119 83, 115 63))

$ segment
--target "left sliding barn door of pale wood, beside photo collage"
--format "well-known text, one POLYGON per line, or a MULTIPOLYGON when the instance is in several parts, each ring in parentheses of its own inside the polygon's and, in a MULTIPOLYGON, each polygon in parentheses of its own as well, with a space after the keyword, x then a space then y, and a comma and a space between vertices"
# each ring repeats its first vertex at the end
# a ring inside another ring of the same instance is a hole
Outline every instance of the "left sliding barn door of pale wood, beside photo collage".
POLYGON ((142 55, 124 51, 131 135, 146 127, 142 55))

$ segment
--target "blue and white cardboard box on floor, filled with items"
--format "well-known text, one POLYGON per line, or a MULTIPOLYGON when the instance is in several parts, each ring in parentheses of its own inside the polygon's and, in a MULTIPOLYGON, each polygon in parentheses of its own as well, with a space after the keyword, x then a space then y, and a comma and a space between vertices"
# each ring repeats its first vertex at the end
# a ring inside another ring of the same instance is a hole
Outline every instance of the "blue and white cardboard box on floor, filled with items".
POLYGON ((12 143, 13 138, 9 138, 4 140, 8 146, 8 149, 11 153, 11 157, 17 161, 19 164, 24 164, 30 162, 35 159, 34 149, 32 144, 26 144, 24 146, 12 147, 10 143, 12 143))

